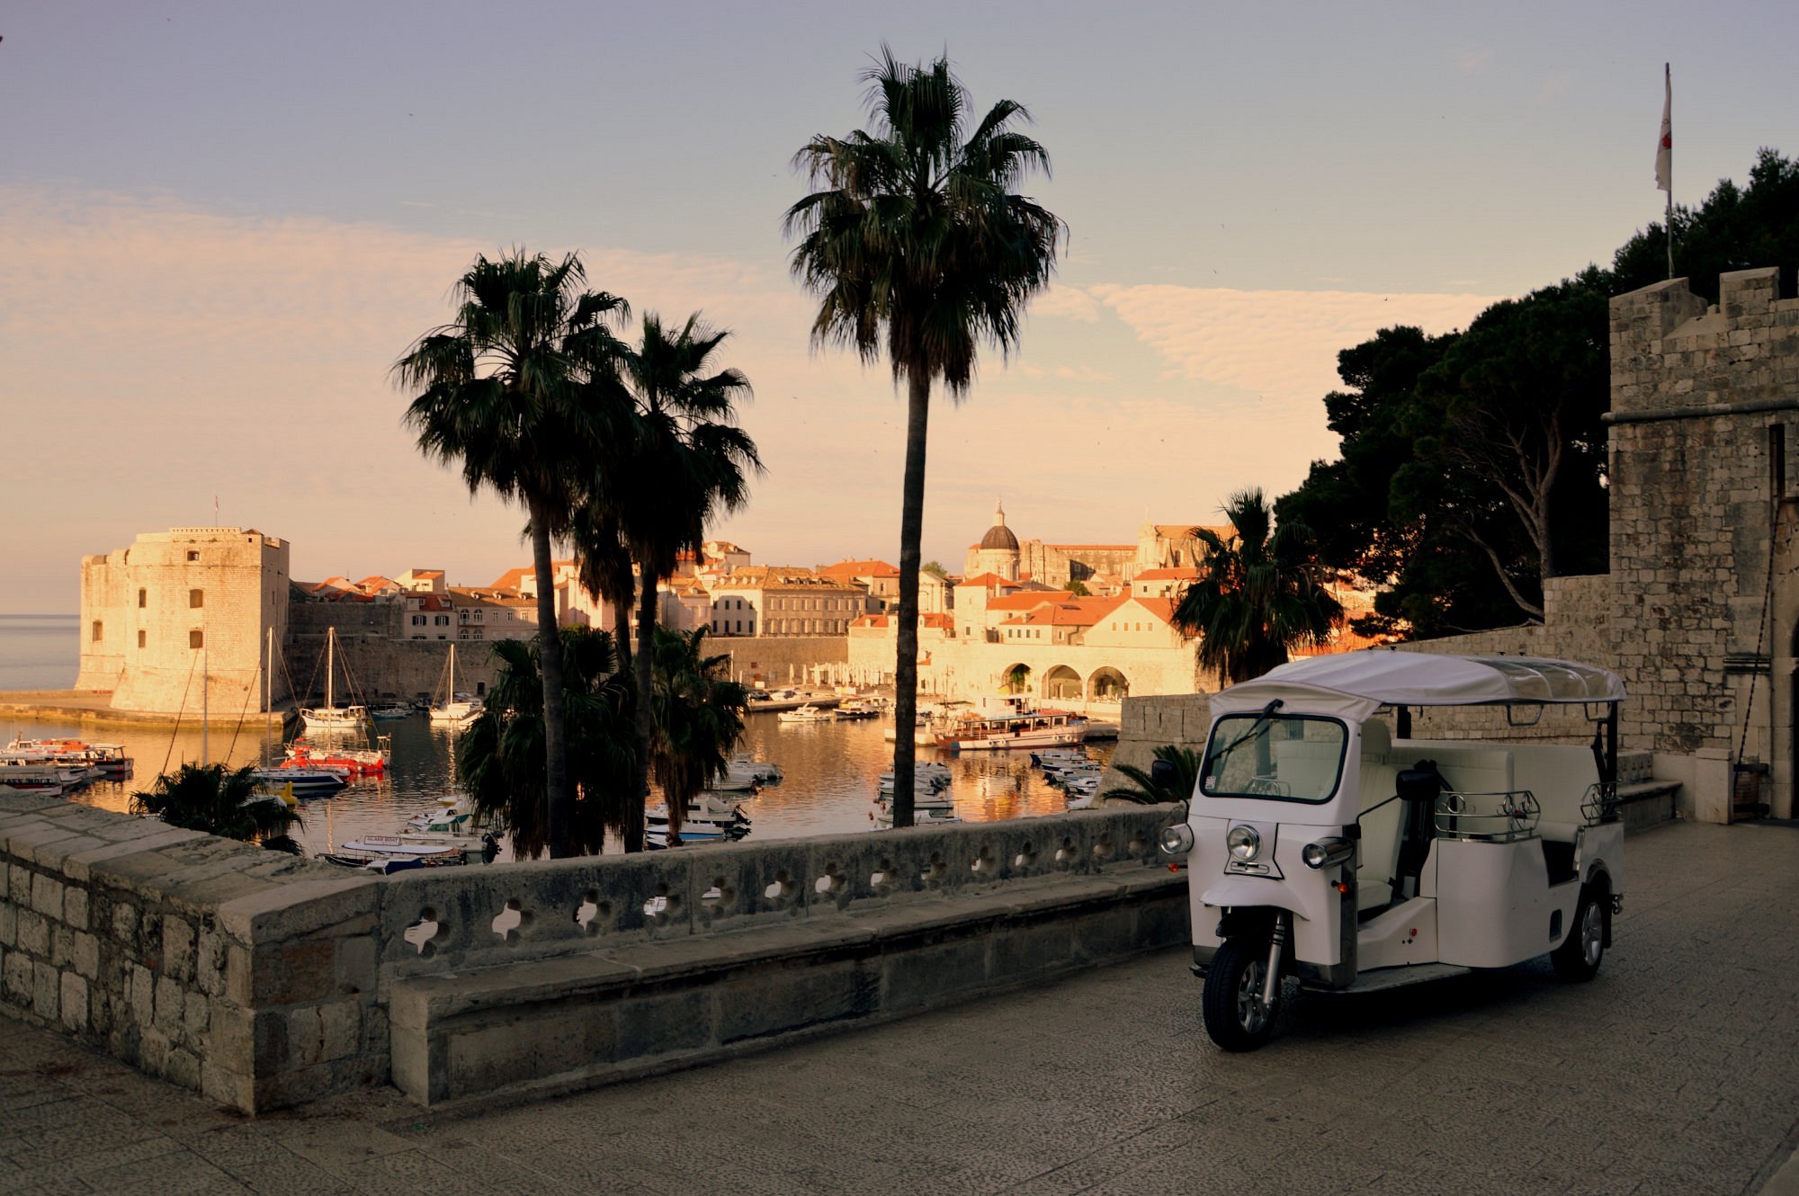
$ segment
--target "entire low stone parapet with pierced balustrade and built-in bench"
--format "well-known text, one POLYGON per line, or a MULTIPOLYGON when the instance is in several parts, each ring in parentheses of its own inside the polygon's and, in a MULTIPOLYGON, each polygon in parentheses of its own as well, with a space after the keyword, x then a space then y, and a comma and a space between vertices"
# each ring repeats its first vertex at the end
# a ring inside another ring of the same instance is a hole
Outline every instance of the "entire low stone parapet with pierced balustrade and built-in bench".
POLYGON ((1187 941, 1164 808, 392 878, 0 797, 0 1005, 246 1113, 527 1099, 1187 941))

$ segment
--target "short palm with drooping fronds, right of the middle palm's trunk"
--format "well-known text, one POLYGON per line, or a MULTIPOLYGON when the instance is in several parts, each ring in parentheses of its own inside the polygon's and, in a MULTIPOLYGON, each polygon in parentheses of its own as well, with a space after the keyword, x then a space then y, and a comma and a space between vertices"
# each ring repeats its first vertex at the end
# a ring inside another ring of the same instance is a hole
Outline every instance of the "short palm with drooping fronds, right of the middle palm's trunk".
POLYGON ((687 804, 725 773, 743 739, 748 692, 729 667, 730 656, 705 655, 705 628, 657 629, 649 761, 667 802, 669 847, 680 843, 687 804))

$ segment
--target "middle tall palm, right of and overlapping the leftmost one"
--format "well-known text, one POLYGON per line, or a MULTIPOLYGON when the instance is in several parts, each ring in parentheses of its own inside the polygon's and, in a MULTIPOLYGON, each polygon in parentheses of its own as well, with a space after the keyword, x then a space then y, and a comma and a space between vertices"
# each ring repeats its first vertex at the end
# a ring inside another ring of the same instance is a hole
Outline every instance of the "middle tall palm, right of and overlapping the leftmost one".
MULTIPOLYGON (((698 313, 680 329, 646 315, 642 338, 624 356, 624 379, 635 397, 633 433, 592 482, 590 504, 617 520, 637 561, 637 653, 631 660, 637 692, 651 692, 657 631, 657 592, 675 576, 684 552, 698 556, 705 527, 716 516, 748 502, 750 475, 763 469, 756 442, 736 426, 736 401, 748 397, 748 379, 734 369, 712 367, 712 354, 729 333, 711 329, 698 313), (711 370, 711 372, 709 372, 711 370)), ((631 793, 649 791, 653 714, 637 703, 637 779, 631 793)), ((642 800, 631 802, 624 827, 626 851, 644 843, 642 800)))

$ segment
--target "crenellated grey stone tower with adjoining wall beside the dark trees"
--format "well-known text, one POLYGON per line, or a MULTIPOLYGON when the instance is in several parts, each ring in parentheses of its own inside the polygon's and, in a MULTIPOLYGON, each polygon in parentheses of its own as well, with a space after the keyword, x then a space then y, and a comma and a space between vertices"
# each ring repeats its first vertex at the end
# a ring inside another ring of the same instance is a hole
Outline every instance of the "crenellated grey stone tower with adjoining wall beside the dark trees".
POLYGON ((1410 647, 1612 665, 1623 746, 1653 752, 1696 818, 1790 818, 1799 299, 1774 268, 1722 275, 1714 306, 1671 279, 1612 300, 1610 342, 1610 572, 1547 579, 1540 626, 1410 647))

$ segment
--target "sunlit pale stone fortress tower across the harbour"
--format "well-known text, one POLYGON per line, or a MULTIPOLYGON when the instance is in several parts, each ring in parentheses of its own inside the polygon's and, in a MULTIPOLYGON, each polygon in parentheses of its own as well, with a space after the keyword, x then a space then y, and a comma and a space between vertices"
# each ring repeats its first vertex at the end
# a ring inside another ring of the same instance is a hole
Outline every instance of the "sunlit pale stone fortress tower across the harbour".
POLYGON ((273 698, 288 696, 286 628, 286 541, 241 527, 146 532, 130 549, 81 558, 76 689, 112 691, 115 710, 198 718, 205 700, 214 719, 259 714, 270 631, 273 698))

